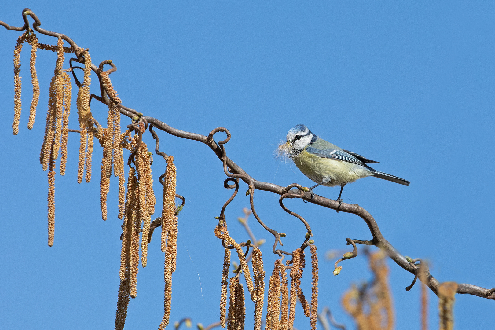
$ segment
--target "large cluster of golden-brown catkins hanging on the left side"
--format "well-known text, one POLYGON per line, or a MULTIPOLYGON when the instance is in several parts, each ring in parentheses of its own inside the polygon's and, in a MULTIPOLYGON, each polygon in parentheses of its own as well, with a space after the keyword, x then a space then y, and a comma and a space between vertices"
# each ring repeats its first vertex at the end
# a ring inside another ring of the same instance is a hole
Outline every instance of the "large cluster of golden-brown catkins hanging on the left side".
MULTIPOLYGON (((36 106, 40 96, 40 88, 36 74, 36 51, 45 49, 55 51, 57 59, 53 78, 49 87, 49 104, 47 113, 47 124, 45 137, 40 153, 40 162, 43 170, 48 170, 49 192, 48 192, 48 244, 53 245, 55 226, 55 161, 60 153, 60 175, 65 174, 67 161, 67 140, 69 131, 79 132, 79 163, 77 181, 82 183, 83 177, 86 182, 91 181, 92 154, 94 139, 97 138, 103 149, 101 160, 100 177, 100 204, 101 216, 107 219, 106 196, 110 187, 110 177, 118 177, 119 198, 118 207, 120 219, 124 219, 122 226, 122 250, 120 264, 120 287, 117 301, 117 312, 115 318, 115 329, 123 329, 127 316, 129 298, 137 295, 137 274, 139 264, 139 234, 141 235, 141 265, 146 267, 148 256, 148 243, 151 240, 150 230, 151 215, 154 213, 156 198, 153 192, 153 180, 151 175, 151 152, 145 142, 141 141, 144 133, 144 123, 138 123, 137 130, 140 134, 131 136, 131 131, 121 132, 120 127, 120 98, 112 87, 108 77, 111 70, 106 72, 101 69, 99 74, 101 86, 108 95, 107 127, 103 128, 94 119, 90 108, 90 85, 92 62, 91 55, 87 49, 78 49, 78 61, 84 64, 84 79, 82 83, 76 80, 79 88, 77 94, 77 110, 79 119, 79 130, 69 130, 68 120, 72 98, 72 85, 70 76, 67 74, 72 69, 63 70, 64 54, 74 52, 71 47, 63 47, 62 38, 58 38, 57 45, 45 45, 38 43, 34 33, 24 33, 14 48, 14 121, 12 124, 13 134, 19 132, 19 121, 21 116, 21 77, 20 52, 24 43, 32 46, 30 70, 33 83, 33 99, 28 121, 28 128, 32 129, 36 106), (129 161, 129 174, 127 181, 127 193, 125 189, 125 172, 123 149, 131 150, 129 161), (134 164, 135 167, 132 166, 134 164), (86 172, 86 173, 85 173, 86 172)), ((110 61, 107 61, 108 63, 110 61)), ((162 226, 161 249, 165 252, 165 313, 159 328, 164 329, 168 324, 171 307, 171 285, 172 272, 176 268, 177 256, 177 215, 175 206, 176 168, 173 157, 167 159, 167 169, 163 185, 163 211, 161 218, 157 218, 157 226, 162 226)), ((154 229, 154 228, 153 228, 154 229)))

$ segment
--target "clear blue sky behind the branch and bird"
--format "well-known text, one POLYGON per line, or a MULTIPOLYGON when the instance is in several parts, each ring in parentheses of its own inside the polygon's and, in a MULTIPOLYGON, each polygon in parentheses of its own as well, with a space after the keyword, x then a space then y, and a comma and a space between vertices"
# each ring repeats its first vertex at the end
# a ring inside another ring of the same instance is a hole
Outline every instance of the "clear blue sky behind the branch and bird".
MULTIPOLYGON (((0 20, 22 25, 21 10, 30 7, 43 28, 90 48, 94 63, 112 59, 118 67, 112 82, 125 105, 186 131, 229 128, 229 157, 257 180, 312 185, 294 165, 274 159, 276 144, 299 123, 380 161, 376 169, 405 178, 411 186, 365 178, 346 186, 344 201, 367 209, 402 254, 430 260, 439 281, 495 286, 492 1, 7 2, 0 4, 0 20)), ((56 177, 55 243, 49 248, 48 184, 38 159, 55 55, 38 52, 42 94, 35 128, 28 131, 31 85, 25 46, 23 114, 14 137, 12 50, 18 35, 0 27, 0 150, 5 156, 0 328, 112 329, 122 224, 116 180, 111 182, 109 219, 103 222, 99 175, 95 172, 90 184, 77 184, 79 141, 76 134, 69 137, 67 174, 56 177)), ((39 38, 55 43, 54 38, 39 38)), ((92 92, 98 91, 94 83, 92 92)), ((92 105, 104 122, 105 107, 92 105)), ((78 128, 75 102, 70 128, 78 128)), ((144 139, 152 143, 148 134, 144 139)), ((194 324, 206 325, 218 320, 223 259, 213 217, 231 191, 222 186, 221 162, 205 145, 164 133, 160 140, 161 149, 175 157, 177 192, 187 199, 179 217, 171 321, 191 317, 194 324)), ((100 158, 97 148, 95 171, 100 158)), ((155 157, 155 178, 164 169, 165 162, 155 157)), ((241 185, 241 191, 246 189, 241 185)), ((159 196, 157 180, 155 191, 159 196)), ((332 199, 338 195, 337 188, 315 191, 332 199)), ((247 239, 235 220, 247 205, 248 198, 240 194, 227 209, 231 235, 238 241, 247 239)), ((345 261, 335 277, 334 261, 325 261, 323 254, 346 248, 346 237, 370 239, 367 226, 357 216, 301 200, 287 205, 313 228, 320 252, 319 305, 328 305, 352 329, 340 298, 350 283, 369 279, 366 260, 345 261)), ((277 195, 256 192, 256 206, 269 226, 288 234, 287 250, 300 244, 304 229, 279 207, 277 195)), ((270 273, 272 237, 253 219, 250 224, 258 238, 268 239, 262 251, 270 273)), ((391 260, 389 266, 396 328, 419 329, 419 286, 406 292, 412 275, 391 260)), ((138 275, 138 297, 130 303, 126 329, 158 327, 162 272, 163 254, 155 237, 148 267, 138 275)), ((309 292, 307 275, 303 282, 309 292)), ((430 298, 430 325, 436 329, 437 298, 433 293, 430 298)), ((491 324, 494 301, 468 295, 456 299, 455 329, 491 324)), ((247 302, 247 329, 252 310, 247 302)), ((309 321, 300 309, 297 313, 295 326, 307 329, 309 321)))

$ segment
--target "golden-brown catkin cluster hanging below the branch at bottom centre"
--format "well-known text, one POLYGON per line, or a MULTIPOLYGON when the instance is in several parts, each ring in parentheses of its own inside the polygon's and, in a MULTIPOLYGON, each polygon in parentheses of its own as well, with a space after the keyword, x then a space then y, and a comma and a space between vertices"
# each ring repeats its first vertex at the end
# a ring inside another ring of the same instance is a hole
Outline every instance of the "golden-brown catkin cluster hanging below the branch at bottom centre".
MULTIPOLYGON (((225 244, 225 257, 222 271, 222 285, 220 296, 220 325, 228 330, 244 329, 245 321, 245 299, 243 284, 239 282, 239 276, 242 270, 246 279, 247 289, 254 302, 254 330, 261 329, 261 315, 263 313, 263 299, 265 290, 265 271, 263 270, 263 261, 261 251, 258 247, 252 246, 251 263, 254 281, 251 279, 246 255, 242 245, 237 243, 224 226, 215 228, 215 236, 222 239, 225 244), (240 266, 236 275, 229 279, 229 268, 231 265, 230 249, 235 249, 239 258, 240 266), (230 281, 230 284, 229 284, 230 281), (227 314, 227 286, 229 286, 230 298, 229 309, 227 314)), ((316 329, 317 309, 318 309, 318 257, 316 246, 311 245, 311 269, 312 269, 312 294, 311 304, 308 304, 300 288, 302 271, 305 267, 304 252, 296 249, 292 253, 292 260, 284 266, 281 259, 275 261, 275 268, 270 276, 268 287, 268 306, 266 314, 267 330, 292 329, 296 316, 297 299, 300 301, 304 315, 310 318, 310 327, 316 329), (291 291, 289 296, 287 269, 291 269, 291 291)))

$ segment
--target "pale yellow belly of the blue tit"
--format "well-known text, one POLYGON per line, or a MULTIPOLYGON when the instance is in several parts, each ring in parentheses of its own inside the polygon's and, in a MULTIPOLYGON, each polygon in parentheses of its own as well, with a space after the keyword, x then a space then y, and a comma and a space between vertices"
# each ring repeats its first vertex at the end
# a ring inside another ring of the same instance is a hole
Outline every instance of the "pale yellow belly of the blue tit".
POLYGON ((328 183, 323 184, 327 187, 346 185, 357 179, 373 175, 363 166, 332 158, 322 158, 305 150, 301 151, 293 160, 302 174, 314 182, 321 184, 330 179, 328 183))

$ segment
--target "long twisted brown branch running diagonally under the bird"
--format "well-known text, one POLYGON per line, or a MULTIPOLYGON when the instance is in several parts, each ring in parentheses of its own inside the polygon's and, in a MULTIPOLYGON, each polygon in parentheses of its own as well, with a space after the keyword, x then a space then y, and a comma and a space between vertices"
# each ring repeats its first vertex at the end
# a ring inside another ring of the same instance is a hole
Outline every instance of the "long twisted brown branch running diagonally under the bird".
MULTIPOLYGON (((4 22, 1 22, 1 21, 0 21, 0 25, 4 26, 7 30, 14 30, 14 31, 27 30, 28 32, 33 32, 33 30, 29 28, 29 21, 28 21, 27 16, 30 16, 34 20, 33 29, 35 31, 37 31, 40 34, 46 35, 46 36, 61 38, 61 39, 65 40, 66 42, 68 42, 70 44, 70 50, 72 50, 76 54, 78 61, 83 60, 83 58, 84 58, 83 53, 84 53, 85 49, 78 47, 77 44, 71 38, 67 37, 64 34, 48 31, 48 30, 41 28, 40 27, 41 21, 36 16, 36 14, 33 13, 31 11, 31 9, 29 9, 29 8, 24 8, 22 10, 22 17, 24 20, 23 26, 21 26, 21 27, 10 26, 10 25, 8 25, 4 22)), ((110 64, 110 62, 106 61, 106 63, 104 63, 104 64, 110 64)), ((97 74, 97 76, 99 77, 99 80, 100 80, 101 97, 96 97, 96 98, 100 102, 108 105, 110 99, 108 98, 108 93, 105 90, 103 84, 101 84, 101 76, 100 76, 101 70, 99 67, 95 66, 94 64, 91 64, 91 69, 97 74)), ((111 70, 115 71, 116 67, 114 65, 112 65, 111 70)), ((282 196, 282 195, 288 193, 287 187, 282 187, 282 186, 278 186, 278 185, 275 185, 272 183, 257 181, 254 178, 252 178, 251 176, 249 176, 247 174, 247 172, 244 171, 234 161, 232 161, 230 158, 228 158, 225 154, 225 148, 223 146, 223 144, 227 143, 231 137, 230 132, 227 129, 221 128, 221 127, 216 128, 213 131, 211 131, 208 136, 204 136, 204 135, 197 134, 197 133, 186 132, 186 131, 182 131, 182 130, 178 130, 176 128, 173 128, 173 127, 167 125, 166 123, 164 123, 164 122, 162 122, 156 118, 143 116, 142 113, 139 113, 134 109, 128 108, 128 107, 122 105, 120 102, 116 102, 116 103, 119 106, 121 114, 123 114, 129 118, 132 118, 133 120, 138 120, 138 119, 139 119, 139 121, 142 120, 145 124, 145 128, 147 128, 148 123, 149 123, 149 124, 152 124, 153 127, 157 128, 161 131, 164 131, 170 135, 173 135, 173 136, 176 136, 179 138, 183 138, 183 139, 199 141, 199 142, 206 144, 208 147, 210 147, 211 150, 215 153, 215 155, 222 161, 222 163, 224 165, 225 174, 231 178, 239 178, 240 180, 244 181, 249 186, 248 192, 250 192, 250 206, 251 206, 251 211, 253 212, 253 215, 255 216, 256 220, 261 224, 261 226, 263 226, 263 228, 265 228, 268 232, 270 232, 272 235, 275 236, 275 244, 273 246, 273 252, 277 253, 279 255, 281 255, 281 253, 288 254, 288 255, 291 254, 289 252, 285 252, 285 251, 282 251, 280 249, 279 250, 276 249, 278 242, 280 242, 280 244, 282 245, 282 242, 280 240, 280 234, 277 231, 274 231, 274 230, 268 228, 261 221, 261 219, 259 218, 259 216, 257 215, 257 213, 255 212, 255 209, 254 209, 254 190, 255 189, 264 190, 264 191, 271 191, 271 192, 277 193, 277 194, 282 196), (220 142, 216 143, 213 140, 213 135, 217 132, 226 133, 227 139, 224 141, 220 141, 220 142)), ((340 204, 339 202, 337 202, 333 199, 322 197, 322 196, 319 196, 316 194, 314 195, 314 198, 311 198, 311 193, 309 191, 302 191, 302 190, 300 190, 299 195, 294 195, 291 193, 291 195, 286 195, 285 198, 301 198, 305 201, 308 201, 308 202, 316 204, 316 205, 320 205, 320 206, 334 209, 334 210, 340 210, 341 212, 352 213, 352 214, 359 216, 361 219, 364 220, 366 225, 368 225, 369 231, 370 231, 373 238, 369 241, 357 241, 357 240, 353 240, 353 241, 355 243, 359 243, 359 244, 378 246, 380 249, 385 251, 389 255, 389 257, 396 262, 397 265, 399 265, 400 267, 402 267, 406 271, 410 272, 411 274, 416 275, 416 267, 414 266, 414 264, 411 265, 411 263, 409 263, 406 260, 406 258, 402 254, 400 254, 387 239, 385 239, 385 237, 380 232, 378 224, 376 223, 373 216, 368 211, 366 211, 361 206, 359 206, 358 204, 347 204, 347 203, 340 204)), ((435 279, 430 274, 429 270, 426 270, 425 273, 426 273, 425 277, 424 277, 426 279, 426 280, 424 280, 425 284, 428 285, 428 287, 430 287, 437 294, 438 293, 438 287, 439 287, 439 281, 437 279, 435 279)), ((423 281, 423 279, 420 279, 420 280, 423 281)), ((487 289, 487 288, 484 288, 481 286, 477 286, 477 285, 473 285, 473 284, 466 284, 466 283, 459 284, 458 288, 457 288, 457 293, 472 294, 472 295, 476 295, 476 296, 483 297, 483 298, 489 298, 489 299, 495 299, 494 292, 495 292, 495 288, 487 289)))

